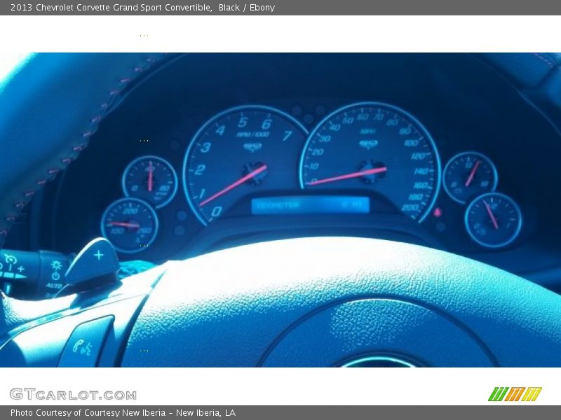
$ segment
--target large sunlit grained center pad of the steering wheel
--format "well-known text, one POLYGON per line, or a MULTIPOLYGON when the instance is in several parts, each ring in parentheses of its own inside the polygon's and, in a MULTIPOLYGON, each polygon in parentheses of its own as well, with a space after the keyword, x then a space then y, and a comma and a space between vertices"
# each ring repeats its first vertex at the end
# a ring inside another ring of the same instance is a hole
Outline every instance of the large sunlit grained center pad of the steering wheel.
POLYGON ((123 366, 559 366, 561 297, 423 246, 316 237, 174 262, 123 366), (266 269, 264 276, 261 270, 266 269))

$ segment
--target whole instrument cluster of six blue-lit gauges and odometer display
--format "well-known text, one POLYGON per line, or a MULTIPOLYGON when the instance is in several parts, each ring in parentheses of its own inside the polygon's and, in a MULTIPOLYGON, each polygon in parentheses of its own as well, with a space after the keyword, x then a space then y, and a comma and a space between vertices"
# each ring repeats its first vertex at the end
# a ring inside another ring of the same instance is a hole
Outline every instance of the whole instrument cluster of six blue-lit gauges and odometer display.
POLYGON ((441 162, 425 125, 394 104, 339 106, 311 130, 273 106, 236 106, 198 127, 181 167, 157 155, 128 162, 122 197, 104 209, 100 232, 121 253, 147 251, 158 237, 158 213, 173 200, 184 200, 201 228, 244 216, 393 215, 431 218, 429 230, 438 231, 438 203, 453 202, 474 246, 515 244, 523 214, 497 190, 491 158, 458 151, 441 162))

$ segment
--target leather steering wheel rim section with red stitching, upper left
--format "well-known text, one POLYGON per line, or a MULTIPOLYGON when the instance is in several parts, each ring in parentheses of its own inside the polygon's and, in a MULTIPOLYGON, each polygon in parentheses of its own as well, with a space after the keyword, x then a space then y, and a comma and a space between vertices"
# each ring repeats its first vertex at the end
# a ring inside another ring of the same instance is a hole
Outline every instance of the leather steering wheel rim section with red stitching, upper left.
POLYGON ((0 91, 0 246, 34 193, 86 148, 159 53, 38 54, 0 91))

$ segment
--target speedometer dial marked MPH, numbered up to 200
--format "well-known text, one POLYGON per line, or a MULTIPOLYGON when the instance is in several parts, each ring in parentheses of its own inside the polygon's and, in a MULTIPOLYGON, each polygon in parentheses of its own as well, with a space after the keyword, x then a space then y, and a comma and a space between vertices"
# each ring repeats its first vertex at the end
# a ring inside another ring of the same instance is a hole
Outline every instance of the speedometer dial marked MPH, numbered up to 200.
POLYGON ((352 104, 311 132, 300 160, 300 186, 367 190, 423 221, 440 188, 440 158, 426 128, 403 109, 352 104))

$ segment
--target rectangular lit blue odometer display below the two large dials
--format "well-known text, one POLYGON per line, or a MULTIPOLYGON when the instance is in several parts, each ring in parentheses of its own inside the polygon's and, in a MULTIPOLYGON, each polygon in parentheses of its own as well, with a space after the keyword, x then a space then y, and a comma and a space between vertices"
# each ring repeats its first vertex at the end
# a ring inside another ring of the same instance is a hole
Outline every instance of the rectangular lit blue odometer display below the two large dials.
POLYGON ((370 198, 350 195, 290 195, 251 200, 251 214, 365 214, 370 198))

